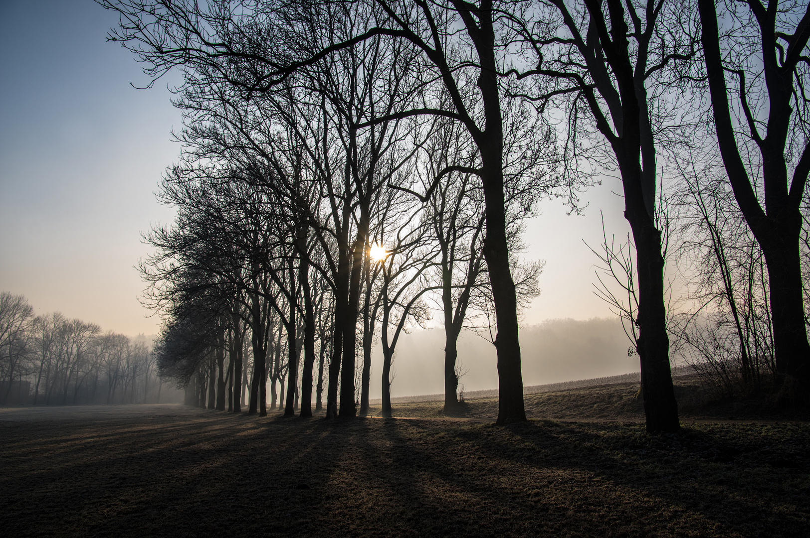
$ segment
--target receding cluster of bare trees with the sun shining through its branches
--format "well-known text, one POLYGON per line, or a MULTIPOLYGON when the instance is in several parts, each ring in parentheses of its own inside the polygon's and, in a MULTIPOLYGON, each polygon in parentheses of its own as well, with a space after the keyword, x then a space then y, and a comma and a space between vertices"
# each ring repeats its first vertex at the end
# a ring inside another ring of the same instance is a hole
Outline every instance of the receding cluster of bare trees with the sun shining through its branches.
MULTIPOLYGON (((380 337, 382 412, 390 414, 397 342, 432 316, 430 303, 446 320, 448 411, 458 405, 458 334, 492 309, 480 157, 457 123, 399 117, 403 97, 430 97, 412 77, 416 54, 396 45, 363 41, 262 95, 203 70, 186 74, 177 99, 183 162, 160 194, 177 220, 147 235, 156 254, 141 269, 151 307, 166 316, 160 371, 191 383, 198 405, 207 387, 209 405, 241 411, 234 395, 249 384, 248 411, 264 414, 266 383, 273 409, 286 382, 279 405, 309 416, 317 366, 315 410, 326 388, 328 416, 354 416, 358 403, 367 413, 380 337)), ((505 261, 525 303, 538 293, 541 266, 516 257, 520 222, 533 192, 553 186, 556 155, 527 149, 547 136, 531 108, 515 103, 504 116, 515 161, 505 167, 505 261)))

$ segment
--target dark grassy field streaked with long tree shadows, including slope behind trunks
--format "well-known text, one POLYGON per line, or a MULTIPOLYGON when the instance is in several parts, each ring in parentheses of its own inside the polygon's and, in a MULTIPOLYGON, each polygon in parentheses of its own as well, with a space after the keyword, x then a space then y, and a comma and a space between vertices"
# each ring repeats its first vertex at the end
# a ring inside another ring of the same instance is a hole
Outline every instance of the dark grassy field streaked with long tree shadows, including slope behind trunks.
MULTIPOLYGON (((544 407, 561 420, 506 427, 181 405, 0 409, 0 528, 3 536, 808 536, 807 422, 687 419, 680 434, 650 436, 632 391, 527 396, 530 414, 544 407), (565 422, 566 413, 617 420, 565 422)), ((494 400, 467 404, 471 417, 497 409, 494 400)))

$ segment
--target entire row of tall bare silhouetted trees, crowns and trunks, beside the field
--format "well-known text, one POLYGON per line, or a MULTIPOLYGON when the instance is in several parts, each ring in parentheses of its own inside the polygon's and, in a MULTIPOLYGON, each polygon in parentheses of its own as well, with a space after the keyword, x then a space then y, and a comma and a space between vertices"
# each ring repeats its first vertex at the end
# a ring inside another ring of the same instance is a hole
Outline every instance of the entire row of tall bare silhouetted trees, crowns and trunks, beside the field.
POLYGON ((540 265, 518 259, 521 222, 545 196, 579 210, 603 173, 632 238, 595 251, 599 293, 640 358, 647 429, 680 427, 674 351, 808 402, 806 4, 99 3, 151 83, 183 77, 160 193, 178 216, 142 271, 160 371, 198 403, 206 387, 238 411, 248 383, 263 414, 264 380, 285 380, 285 414, 296 395, 312 413, 314 383, 316 409, 326 392, 327 417, 354 417, 379 338, 390 414, 397 341, 432 302, 445 409, 471 324, 497 349, 498 422, 525 420, 518 311, 540 265), (690 316, 665 302, 676 252, 696 262, 690 316))

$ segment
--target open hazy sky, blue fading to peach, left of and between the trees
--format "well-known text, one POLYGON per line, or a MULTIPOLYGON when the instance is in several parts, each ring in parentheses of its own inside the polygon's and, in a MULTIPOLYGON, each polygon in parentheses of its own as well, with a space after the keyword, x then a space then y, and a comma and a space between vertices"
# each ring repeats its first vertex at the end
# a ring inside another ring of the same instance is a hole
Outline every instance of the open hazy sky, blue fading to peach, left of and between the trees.
MULTIPOLYGON (((25 294, 37 313, 58 310, 134 335, 156 333, 134 269, 141 233, 173 210, 154 193, 179 146, 180 114, 166 83, 145 78, 132 55, 105 42, 117 18, 91 0, 0 2, 0 290, 25 294)), ((624 236, 615 179, 583 198, 584 216, 560 201, 528 223, 527 256, 544 259, 543 293, 525 324, 609 316, 592 293, 595 256, 582 243, 624 236)))

